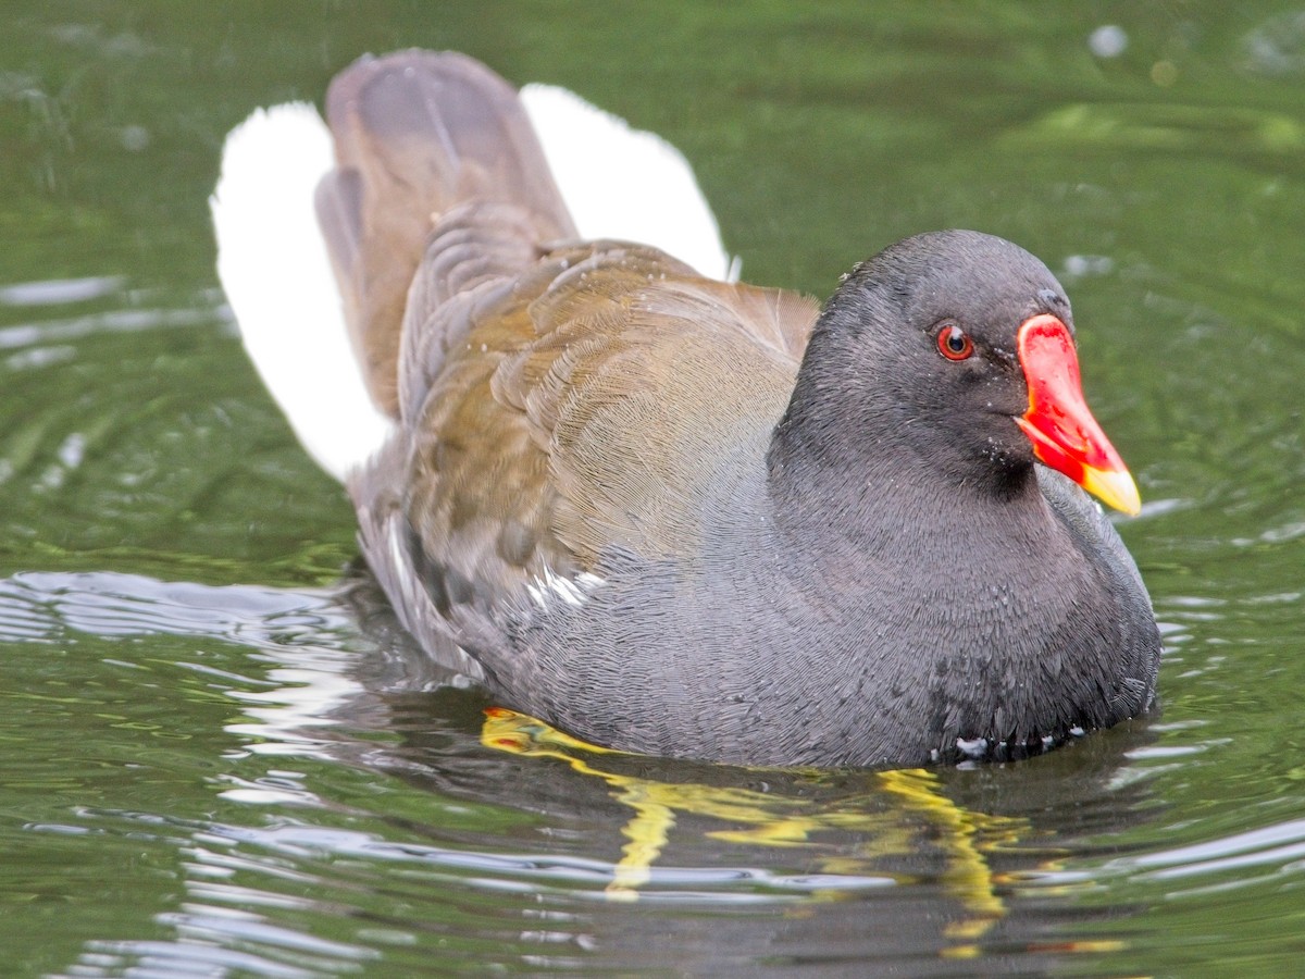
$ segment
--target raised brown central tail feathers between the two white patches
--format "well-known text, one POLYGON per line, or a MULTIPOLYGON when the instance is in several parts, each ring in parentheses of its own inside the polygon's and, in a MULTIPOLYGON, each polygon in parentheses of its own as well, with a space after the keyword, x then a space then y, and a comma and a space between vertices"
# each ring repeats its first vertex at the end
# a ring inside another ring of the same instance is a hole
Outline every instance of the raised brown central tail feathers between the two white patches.
POLYGON ((397 418, 403 313, 436 222, 509 205, 530 245, 576 227, 517 90, 465 55, 363 57, 331 82, 326 120, 337 164, 317 215, 368 390, 397 418))

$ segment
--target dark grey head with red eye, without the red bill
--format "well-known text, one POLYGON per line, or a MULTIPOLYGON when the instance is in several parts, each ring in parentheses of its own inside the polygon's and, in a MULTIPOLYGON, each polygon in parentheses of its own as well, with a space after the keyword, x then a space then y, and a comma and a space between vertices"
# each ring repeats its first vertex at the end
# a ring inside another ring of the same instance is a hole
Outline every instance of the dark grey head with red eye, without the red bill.
POLYGON ((1039 313, 1073 330, 1061 285, 1023 248, 976 231, 899 241, 826 303, 782 429, 843 465, 893 445, 954 482, 1027 478, 1019 329, 1039 313))

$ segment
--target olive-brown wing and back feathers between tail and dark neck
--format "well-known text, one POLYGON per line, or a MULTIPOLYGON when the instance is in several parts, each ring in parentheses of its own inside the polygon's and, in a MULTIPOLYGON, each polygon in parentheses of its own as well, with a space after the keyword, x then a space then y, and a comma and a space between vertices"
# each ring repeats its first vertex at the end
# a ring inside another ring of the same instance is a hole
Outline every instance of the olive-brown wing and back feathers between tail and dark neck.
POLYGON ((492 604, 612 546, 692 551, 705 487, 765 453, 816 313, 620 243, 444 302, 427 328, 459 341, 432 347, 403 503, 436 603, 492 604))

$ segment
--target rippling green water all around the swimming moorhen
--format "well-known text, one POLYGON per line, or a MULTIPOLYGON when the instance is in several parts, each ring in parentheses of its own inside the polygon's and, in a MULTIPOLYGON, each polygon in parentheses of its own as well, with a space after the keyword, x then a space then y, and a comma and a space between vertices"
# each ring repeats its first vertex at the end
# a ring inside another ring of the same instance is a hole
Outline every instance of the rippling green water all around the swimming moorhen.
POLYGON ((1305 8, 0 16, 0 974, 1298 971, 1305 8), (947 226, 1040 255, 1146 501, 1163 715, 899 779, 483 741, 339 583, 352 513, 213 269, 226 132, 403 46, 671 138, 750 281, 947 226))

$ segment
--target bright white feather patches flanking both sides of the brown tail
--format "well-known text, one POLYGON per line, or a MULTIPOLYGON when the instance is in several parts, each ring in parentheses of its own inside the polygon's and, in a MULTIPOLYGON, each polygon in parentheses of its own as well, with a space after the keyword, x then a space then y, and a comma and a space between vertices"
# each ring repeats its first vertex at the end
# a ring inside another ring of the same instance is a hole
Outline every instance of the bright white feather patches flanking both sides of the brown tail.
MULTIPOLYGON (((642 241, 737 281, 739 261, 675 146, 566 89, 527 85, 521 95, 582 238, 642 241)), ((394 423, 363 385, 317 228, 313 191, 331 166, 316 108, 257 110, 227 134, 209 206, 245 351, 304 449, 343 482, 394 423)))

